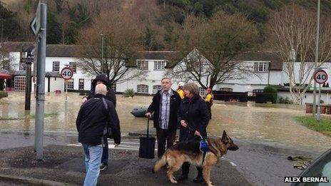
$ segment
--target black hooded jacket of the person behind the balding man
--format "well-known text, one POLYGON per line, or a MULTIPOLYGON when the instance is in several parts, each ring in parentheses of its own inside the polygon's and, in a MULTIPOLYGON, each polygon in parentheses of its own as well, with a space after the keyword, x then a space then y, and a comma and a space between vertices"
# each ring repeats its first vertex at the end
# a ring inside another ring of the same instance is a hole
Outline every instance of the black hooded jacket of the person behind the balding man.
POLYGON ((92 81, 92 88, 91 88, 91 93, 88 95, 87 99, 91 99, 94 97, 95 91, 96 91, 96 82, 97 81, 103 81, 103 83, 107 86, 107 95, 106 98, 110 100, 113 105, 116 107, 116 95, 115 91, 113 91, 112 88, 110 88, 110 82, 105 74, 100 74, 96 76, 96 78, 92 81))

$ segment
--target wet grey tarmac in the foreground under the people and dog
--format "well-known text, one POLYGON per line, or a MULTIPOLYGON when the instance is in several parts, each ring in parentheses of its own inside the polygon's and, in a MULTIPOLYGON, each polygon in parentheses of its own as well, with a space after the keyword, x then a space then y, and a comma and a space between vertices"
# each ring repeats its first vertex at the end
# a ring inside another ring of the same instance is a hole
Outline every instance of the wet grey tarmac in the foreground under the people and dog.
MULTIPOLYGON (((251 140, 235 143, 239 150, 229 151, 213 167, 214 185, 289 185, 283 182, 284 177, 297 176, 301 170, 293 168, 287 156, 320 154, 251 140)), ((46 133, 43 161, 36 161, 33 144, 33 133, 0 133, 0 185, 83 184, 83 148, 77 143, 76 134, 46 133)), ((98 185, 173 185, 166 178, 165 169, 151 172, 156 159, 139 158, 138 146, 135 136, 123 136, 117 148, 109 145, 109 167, 101 172, 98 185)), ((179 174, 180 171, 175 172, 175 177, 179 174)), ((193 184, 195 175, 195 167, 191 166, 189 179, 177 185, 193 184)))

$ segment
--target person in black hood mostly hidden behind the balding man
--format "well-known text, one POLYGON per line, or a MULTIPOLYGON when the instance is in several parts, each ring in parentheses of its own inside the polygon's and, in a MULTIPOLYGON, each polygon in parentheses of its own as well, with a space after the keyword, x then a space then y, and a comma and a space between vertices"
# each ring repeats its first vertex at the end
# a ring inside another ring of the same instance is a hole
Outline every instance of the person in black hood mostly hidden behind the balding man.
MULTIPOLYGON (((113 91, 113 89, 111 88, 110 82, 106 76, 106 74, 100 74, 98 76, 96 76, 96 78, 92 81, 92 87, 91 87, 91 93, 86 97, 83 97, 83 103, 86 102, 86 100, 89 100, 91 98, 94 98, 95 96, 95 90, 96 90, 96 85, 98 84, 104 84, 107 86, 107 94, 106 94, 106 98, 108 100, 110 100, 113 105, 116 108, 116 95, 115 95, 115 91, 113 91)), ((107 137, 105 135, 104 139, 104 144, 103 145, 103 153, 102 153, 102 157, 101 157, 101 165, 100 165, 100 170, 106 170, 108 168, 108 140, 107 137)))

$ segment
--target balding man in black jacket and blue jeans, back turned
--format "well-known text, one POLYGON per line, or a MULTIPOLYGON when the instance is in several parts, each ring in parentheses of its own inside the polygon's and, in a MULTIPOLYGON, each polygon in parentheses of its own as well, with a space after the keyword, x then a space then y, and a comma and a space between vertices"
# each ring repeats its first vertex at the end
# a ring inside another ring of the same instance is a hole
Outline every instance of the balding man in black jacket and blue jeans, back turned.
POLYGON ((106 93, 106 86, 98 84, 96 95, 81 105, 76 120, 78 142, 82 143, 85 153, 84 185, 96 185, 98 182, 103 136, 107 133, 107 125, 112 129, 115 145, 121 143, 118 115, 113 103, 106 99, 106 93))

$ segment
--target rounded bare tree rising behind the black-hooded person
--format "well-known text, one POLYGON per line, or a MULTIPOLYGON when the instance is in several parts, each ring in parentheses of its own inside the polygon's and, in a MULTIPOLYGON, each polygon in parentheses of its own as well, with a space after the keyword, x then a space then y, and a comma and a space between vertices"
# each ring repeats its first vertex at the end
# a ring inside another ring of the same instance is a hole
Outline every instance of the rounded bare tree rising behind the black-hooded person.
POLYGON ((141 76, 143 71, 133 68, 141 51, 140 37, 131 16, 120 11, 103 12, 78 38, 78 68, 93 75, 106 73, 111 83, 141 76))

